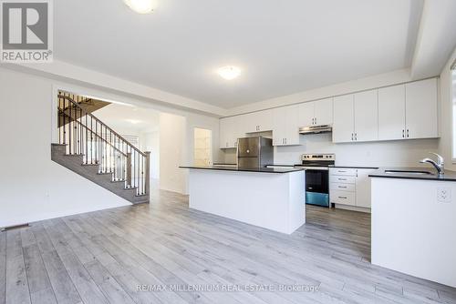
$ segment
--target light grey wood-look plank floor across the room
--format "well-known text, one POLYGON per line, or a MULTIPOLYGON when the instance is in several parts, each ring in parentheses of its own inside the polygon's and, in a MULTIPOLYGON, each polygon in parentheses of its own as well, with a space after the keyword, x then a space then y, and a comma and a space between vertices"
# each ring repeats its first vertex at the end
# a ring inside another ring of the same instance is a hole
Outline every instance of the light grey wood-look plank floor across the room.
POLYGON ((152 201, 0 233, 0 304, 456 303, 456 289, 369 263, 368 214, 307 206, 287 236, 171 192, 152 201), (317 290, 276 290, 304 286, 317 290))

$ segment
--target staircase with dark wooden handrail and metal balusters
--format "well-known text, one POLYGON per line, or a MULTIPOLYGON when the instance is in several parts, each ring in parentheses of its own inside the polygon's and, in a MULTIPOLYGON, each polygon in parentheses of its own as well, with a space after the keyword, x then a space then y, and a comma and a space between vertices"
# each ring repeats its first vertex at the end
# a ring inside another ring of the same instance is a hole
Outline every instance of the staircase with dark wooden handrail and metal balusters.
POLYGON ((150 152, 92 115, 109 104, 99 102, 59 92, 58 143, 51 145, 51 159, 132 204, 149 203, 150 152))

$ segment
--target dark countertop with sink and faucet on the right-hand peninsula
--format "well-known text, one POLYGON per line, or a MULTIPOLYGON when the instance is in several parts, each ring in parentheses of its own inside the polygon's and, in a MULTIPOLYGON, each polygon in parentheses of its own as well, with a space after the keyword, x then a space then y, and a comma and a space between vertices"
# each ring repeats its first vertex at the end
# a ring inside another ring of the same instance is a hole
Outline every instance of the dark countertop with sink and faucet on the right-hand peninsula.
POLYGON ((369 177, 385 177, 385 178, 402 178, 402 179, 425 179, 434 181, 456 181, 456 172, 445 170, 442 176, 437 175, 434 167, 380 167, 375 172, 369 174, 369 177), (413 174, 407 172, 387 173, 385 171, 419 171, 429 172, 430 174, 413 174))

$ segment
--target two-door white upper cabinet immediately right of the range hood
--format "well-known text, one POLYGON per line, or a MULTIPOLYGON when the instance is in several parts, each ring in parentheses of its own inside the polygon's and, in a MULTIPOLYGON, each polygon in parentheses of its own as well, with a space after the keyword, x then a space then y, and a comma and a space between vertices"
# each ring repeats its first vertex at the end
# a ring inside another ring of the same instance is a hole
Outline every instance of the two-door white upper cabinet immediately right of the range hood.
POLYGON ((378 90, 334 97, 333 141, 378 140, 378 90))

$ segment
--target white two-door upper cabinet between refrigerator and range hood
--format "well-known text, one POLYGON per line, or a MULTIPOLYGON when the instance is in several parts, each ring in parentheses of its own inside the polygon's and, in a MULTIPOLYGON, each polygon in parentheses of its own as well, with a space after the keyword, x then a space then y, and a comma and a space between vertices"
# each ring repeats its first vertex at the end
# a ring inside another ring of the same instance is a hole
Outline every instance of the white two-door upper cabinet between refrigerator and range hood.
POLYGON ((273 110, 273 146, 299 145, 297 106, 282 106, 273 110))

